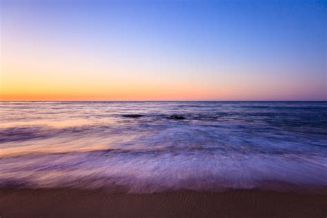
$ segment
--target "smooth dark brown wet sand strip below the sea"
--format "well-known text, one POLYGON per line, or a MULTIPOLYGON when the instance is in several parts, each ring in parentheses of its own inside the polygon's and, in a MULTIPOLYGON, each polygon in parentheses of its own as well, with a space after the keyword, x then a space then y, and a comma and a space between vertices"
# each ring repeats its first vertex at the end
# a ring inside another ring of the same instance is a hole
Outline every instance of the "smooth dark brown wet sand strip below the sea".
POLYGON ((6 217, 326 217, 324 193, 264 190, 130 194, 108 190, 2 189, 6 217))

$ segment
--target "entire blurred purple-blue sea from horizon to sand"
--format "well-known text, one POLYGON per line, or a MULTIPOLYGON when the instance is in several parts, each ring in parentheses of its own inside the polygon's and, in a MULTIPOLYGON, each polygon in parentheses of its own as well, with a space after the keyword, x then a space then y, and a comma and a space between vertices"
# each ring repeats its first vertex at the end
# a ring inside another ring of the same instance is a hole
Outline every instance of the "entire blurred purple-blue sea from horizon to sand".
POLYGON ((0 187, 327 186, 327 102, 1 101, 0 187))

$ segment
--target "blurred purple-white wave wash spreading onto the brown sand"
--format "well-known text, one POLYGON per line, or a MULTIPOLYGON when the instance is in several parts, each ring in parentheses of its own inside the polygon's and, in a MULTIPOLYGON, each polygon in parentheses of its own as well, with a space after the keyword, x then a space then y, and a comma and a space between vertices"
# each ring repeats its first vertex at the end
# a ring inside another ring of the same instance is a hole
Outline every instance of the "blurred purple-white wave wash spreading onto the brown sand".
POLYGON ((267 183, 275 181, 291 184, 288 188, 324 187, 326 167, 326 159, 303 155, 104 150, 0 159, 0 186, 99 188, 115 184, 130 192, 158 192, 280 188, 267 183))

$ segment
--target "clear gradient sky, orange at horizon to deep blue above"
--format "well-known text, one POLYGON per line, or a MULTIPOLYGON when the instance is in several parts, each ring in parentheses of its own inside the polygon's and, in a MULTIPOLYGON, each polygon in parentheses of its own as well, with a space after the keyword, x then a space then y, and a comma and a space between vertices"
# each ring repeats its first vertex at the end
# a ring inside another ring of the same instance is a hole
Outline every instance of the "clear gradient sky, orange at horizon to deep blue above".
POLYGON ((327 100, 327 1, 0 6, 1 100, 327 100))

